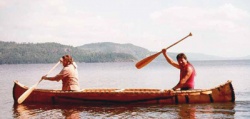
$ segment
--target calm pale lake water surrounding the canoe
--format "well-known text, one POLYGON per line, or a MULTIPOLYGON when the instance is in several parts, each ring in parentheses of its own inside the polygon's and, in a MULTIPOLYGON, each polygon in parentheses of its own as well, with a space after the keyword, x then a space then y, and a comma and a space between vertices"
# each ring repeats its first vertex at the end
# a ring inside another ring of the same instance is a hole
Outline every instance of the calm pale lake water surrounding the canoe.
MULTIPOLYGON (((212 88, 232 80, 235 103, 181 105, 14 105, 13 81, 26 86, 39 81, 55 64, 0 65, 0 119, 11 118, 250 118, 250 60, 193 61, 195 88, 212 88)), ((170 89, 179 70, 167 62, 151 62, 142 69, 135 63, 78 63, 81 88, 170 89)), ((50 76, 57 74, 58 66, 50 76)), ((37 88, 61 89, 61 82, 42 81, 37 88)))

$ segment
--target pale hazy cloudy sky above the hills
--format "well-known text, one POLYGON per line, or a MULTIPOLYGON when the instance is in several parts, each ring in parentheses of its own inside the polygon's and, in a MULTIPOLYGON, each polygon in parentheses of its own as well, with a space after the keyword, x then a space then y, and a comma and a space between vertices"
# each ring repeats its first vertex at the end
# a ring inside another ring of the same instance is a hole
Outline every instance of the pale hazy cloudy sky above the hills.
POLYGON ((0 41, 250 55, 249 0, 0 0, 0 41))

